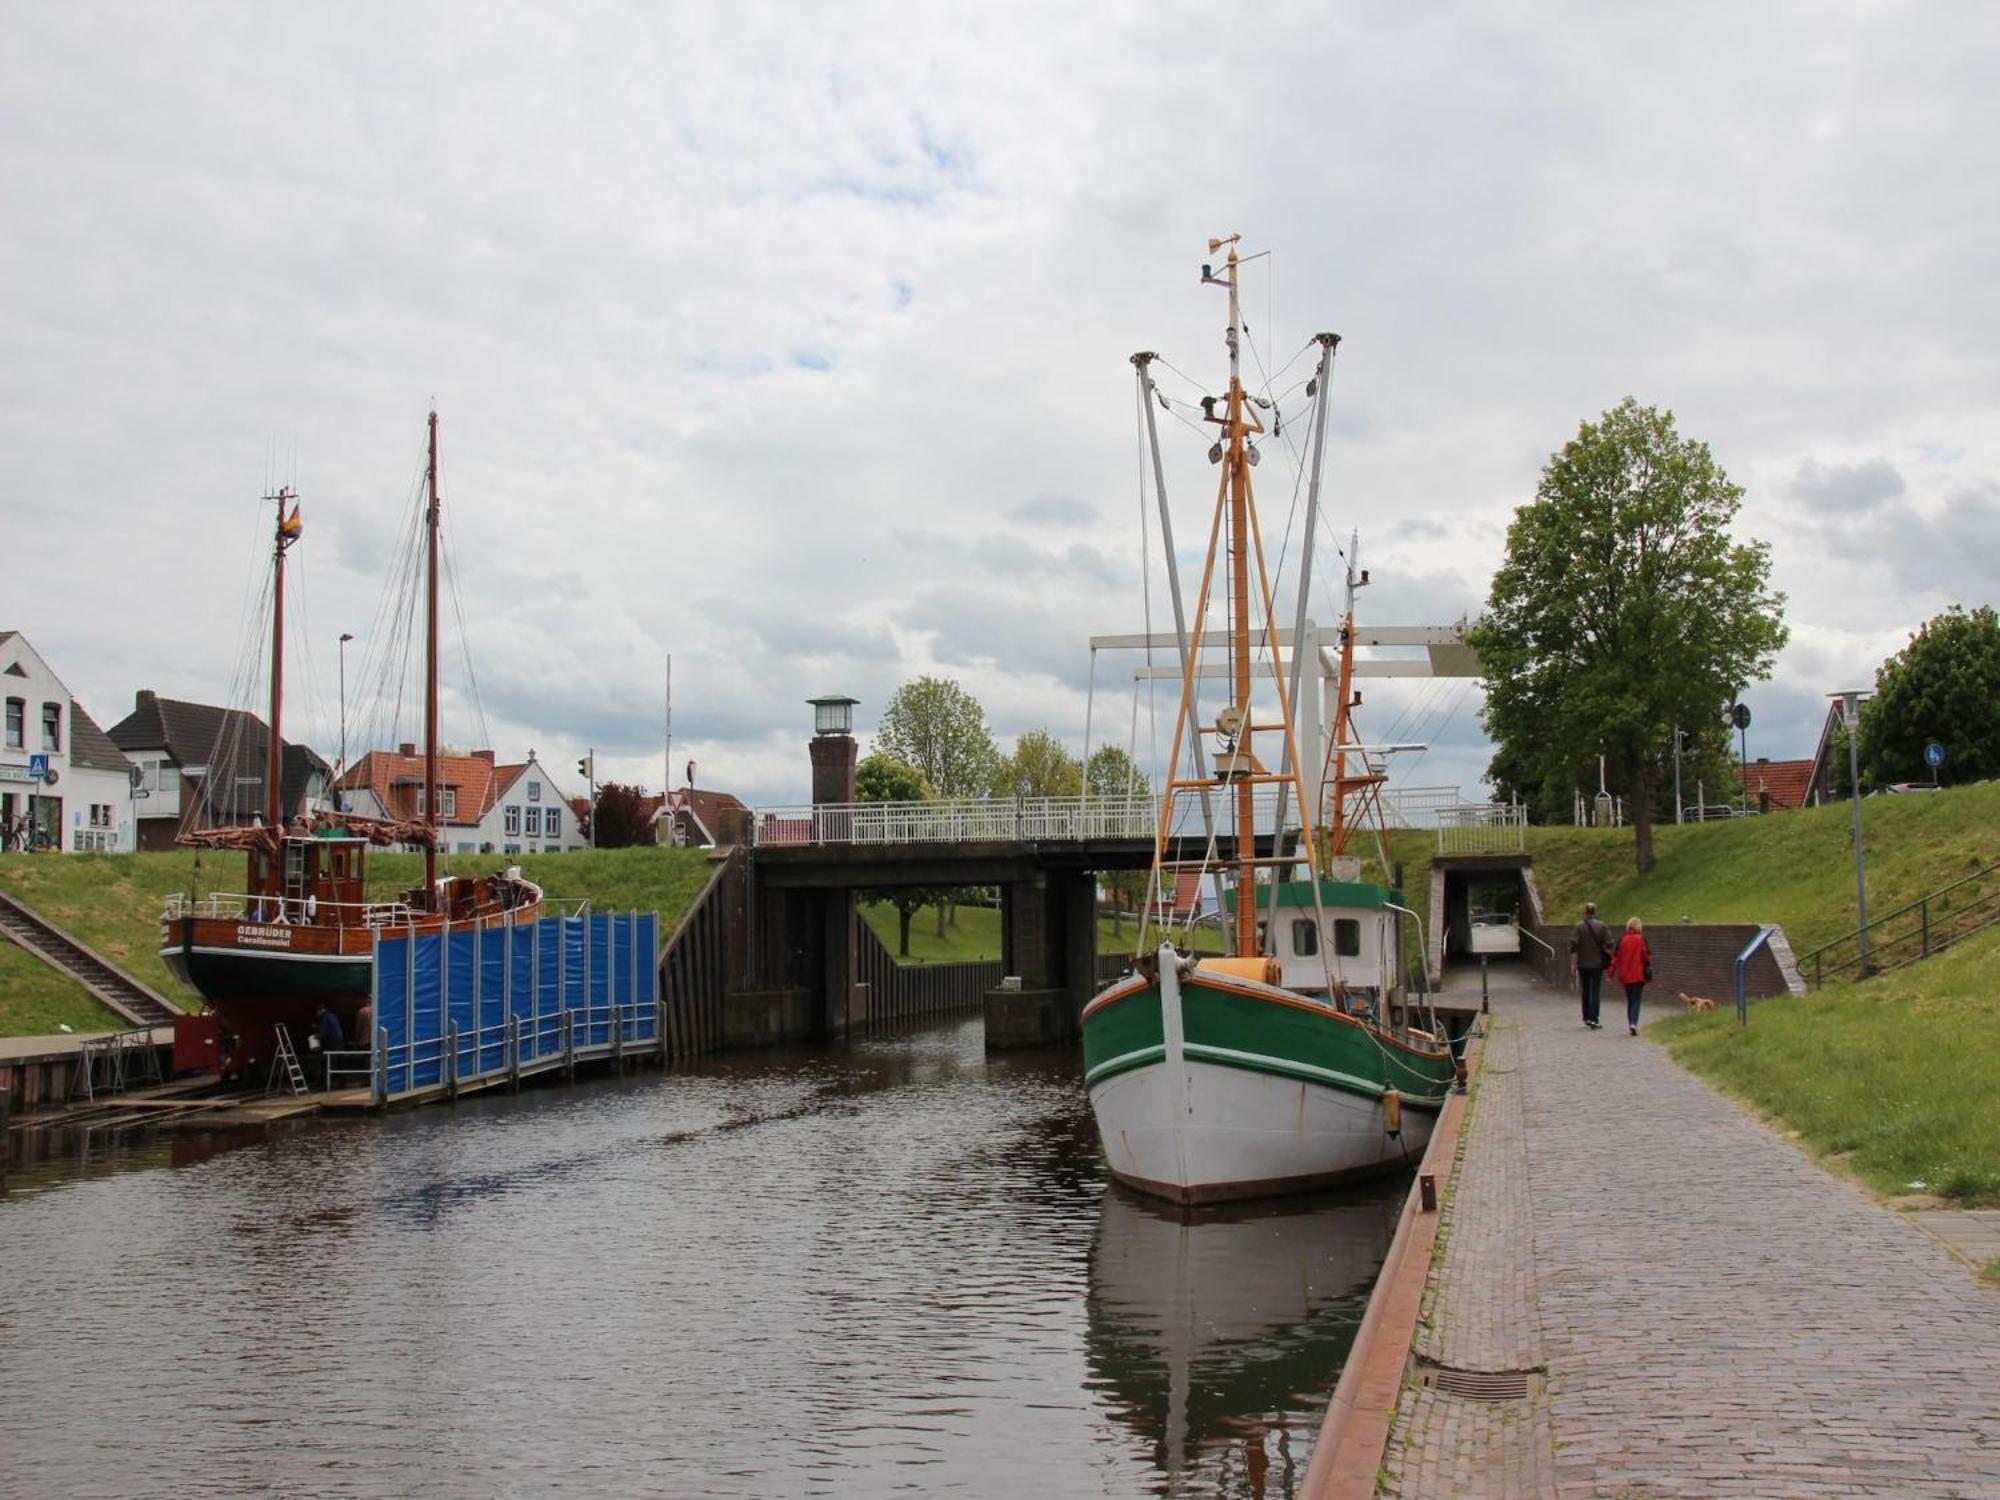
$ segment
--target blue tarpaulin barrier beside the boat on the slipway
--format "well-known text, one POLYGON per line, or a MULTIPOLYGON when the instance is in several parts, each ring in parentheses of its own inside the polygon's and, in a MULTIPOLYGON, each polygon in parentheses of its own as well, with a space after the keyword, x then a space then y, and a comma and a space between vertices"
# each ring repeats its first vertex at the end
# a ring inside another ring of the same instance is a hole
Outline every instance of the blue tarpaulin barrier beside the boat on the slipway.
POLYGON ((658 944, 652 912, 378 936, 378 1092, 396 1098, 658 1044, 658 944))

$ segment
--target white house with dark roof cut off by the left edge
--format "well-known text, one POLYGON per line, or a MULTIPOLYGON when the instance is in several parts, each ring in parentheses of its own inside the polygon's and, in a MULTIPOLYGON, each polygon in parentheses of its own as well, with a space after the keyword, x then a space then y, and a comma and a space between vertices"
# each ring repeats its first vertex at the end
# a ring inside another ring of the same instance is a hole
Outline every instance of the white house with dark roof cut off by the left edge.
POLYGON ((134 848, 132 762, 18 630, 0 630, 0 848, 134 848))

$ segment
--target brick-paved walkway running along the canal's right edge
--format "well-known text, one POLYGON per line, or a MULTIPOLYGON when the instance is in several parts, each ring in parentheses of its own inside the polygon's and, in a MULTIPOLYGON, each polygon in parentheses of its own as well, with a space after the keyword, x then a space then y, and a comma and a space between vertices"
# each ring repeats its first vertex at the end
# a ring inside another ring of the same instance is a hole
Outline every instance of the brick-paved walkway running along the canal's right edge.
POLYGON ((1492 1004, 1388 1492, 2000 1498, 2000 1294, 1622 998, 1492 1004))

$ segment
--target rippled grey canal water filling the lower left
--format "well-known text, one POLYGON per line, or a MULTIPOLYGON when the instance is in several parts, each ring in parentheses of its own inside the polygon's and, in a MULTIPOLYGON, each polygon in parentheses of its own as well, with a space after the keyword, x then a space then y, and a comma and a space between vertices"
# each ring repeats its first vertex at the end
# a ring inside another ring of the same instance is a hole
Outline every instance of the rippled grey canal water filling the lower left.
POLYGON ((1288 1496, 1404 1184, 1174 1214, 978 1020, 264 1132, 42 1134, 12 1494, 1288 1496))

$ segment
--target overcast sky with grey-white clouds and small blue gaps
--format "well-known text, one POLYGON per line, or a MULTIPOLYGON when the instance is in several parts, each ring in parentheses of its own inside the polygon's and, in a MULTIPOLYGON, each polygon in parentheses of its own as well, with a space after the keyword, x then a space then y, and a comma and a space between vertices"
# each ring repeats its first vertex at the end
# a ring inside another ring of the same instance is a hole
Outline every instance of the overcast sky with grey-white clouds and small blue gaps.
MULTIPOLYGON (((1970 2, 6 6, 0 630, 104 726, 250 702, 290 484, 286 734, 332 758, 344 680, 350 754, 414 738, 382 596, 434 408, 448 742, 658 788, 672 658, 676 786, 802 802, 806 698, 866 744, 920 674, 1080 750, 1088 638, 1170 620, 1128 356, 1224 388, 1242 234, 1250 374, 1342 334, 1366 622, 1476 612, 1636 396, 1746 490, 1792 628, 1750 754, 1810 756, 2000 598, 1996 44, 1970 2)), ((1092 740, 1146 758, 1130 666, 1092 740)), ((1482 796, 1478 702, 1370 684, 1362 730, 1482 796)))

